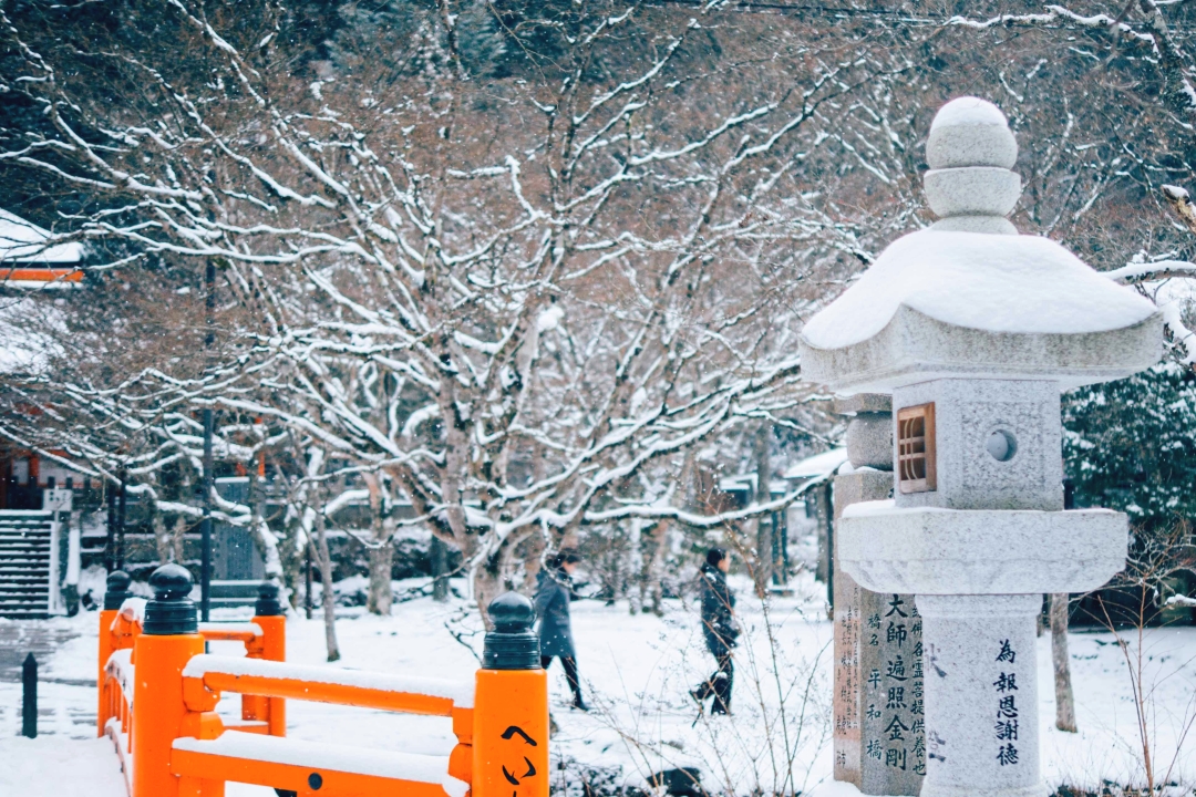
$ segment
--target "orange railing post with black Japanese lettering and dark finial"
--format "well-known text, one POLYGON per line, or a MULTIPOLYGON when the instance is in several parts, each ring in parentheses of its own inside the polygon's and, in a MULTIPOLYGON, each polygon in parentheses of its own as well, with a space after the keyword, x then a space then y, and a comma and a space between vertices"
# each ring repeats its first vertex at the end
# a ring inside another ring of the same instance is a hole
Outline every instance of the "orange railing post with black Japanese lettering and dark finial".
POLYGON ((499 595, 487 609, 474 694, 471 797, 548 797, 548 674, 531 601, 499 595))

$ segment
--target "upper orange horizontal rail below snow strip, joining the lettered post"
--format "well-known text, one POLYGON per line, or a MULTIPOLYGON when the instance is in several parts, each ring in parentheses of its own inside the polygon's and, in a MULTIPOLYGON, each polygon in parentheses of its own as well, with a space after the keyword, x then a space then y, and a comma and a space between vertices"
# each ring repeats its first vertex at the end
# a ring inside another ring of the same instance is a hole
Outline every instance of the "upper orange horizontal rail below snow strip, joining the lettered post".
MULTIPOLYGON (((380 709, 409 715, 428 715, 432 717, 451 717, 453 701, 450 698, 415 694, 410 692, 390 692, 344 683, 321 683, 318 681, 300 681, 289 678, 270 678, 263 675, 233 675, 232 673, 205 673, 202 678, 184 678, 183 694, 194 694, 195 686, 188 681, 202 681, 212 692, 236 692, 238 694, 257 694, 267 698, 292 698, 313 703, 332 703, 360 709, 380 709)), ((188 700, 188 704, 197 703, 188 700)), ((193 711, 203 711, 202 704, 193 711)))

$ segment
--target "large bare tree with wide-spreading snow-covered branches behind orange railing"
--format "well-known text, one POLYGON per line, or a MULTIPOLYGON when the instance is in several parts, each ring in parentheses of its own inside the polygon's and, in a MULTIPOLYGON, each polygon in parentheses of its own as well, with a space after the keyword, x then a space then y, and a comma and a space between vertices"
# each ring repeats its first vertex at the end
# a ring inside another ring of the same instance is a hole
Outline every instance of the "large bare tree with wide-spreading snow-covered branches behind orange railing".
POLYGON ((877 112, 904 65, 865 37, 587 4, 551 65, 480 81, 458 11, 417 13, 388 59, 342 36, 310 72, 268 4, 133 0, 115 31, 54 37, 6 17, 6 88, 43 122, 0 163, 91 197, 72 234, 130 252, 99 268, 218 263, 248 354, 142 385, 311 440, 378 507, 408 497, 484 605, 530 535, 727 520, 673 499, 684 454, 806 428, 803 309, 885 233, 835 204, 859 180, 835 147, 895 183, 910 147, 877 112))

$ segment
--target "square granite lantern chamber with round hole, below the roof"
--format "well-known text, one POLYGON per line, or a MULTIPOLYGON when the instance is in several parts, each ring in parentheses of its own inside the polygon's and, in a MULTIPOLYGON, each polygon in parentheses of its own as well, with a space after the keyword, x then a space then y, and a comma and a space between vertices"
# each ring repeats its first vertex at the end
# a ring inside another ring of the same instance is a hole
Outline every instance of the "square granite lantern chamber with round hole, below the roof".
MULTIPOLYGON (((893 497, 898 507, 1063 508, 1058 385, 1036 380, 939 379, 893 391, 893 406, 934 403, 938 489, 893 497), (1006 461, 987 448, 994 433, 1015 443, 1006 461)), ((896 428, 896 424, 895 424, 896 428)), ((890 448, 892 467, 897 452, 890 448)))

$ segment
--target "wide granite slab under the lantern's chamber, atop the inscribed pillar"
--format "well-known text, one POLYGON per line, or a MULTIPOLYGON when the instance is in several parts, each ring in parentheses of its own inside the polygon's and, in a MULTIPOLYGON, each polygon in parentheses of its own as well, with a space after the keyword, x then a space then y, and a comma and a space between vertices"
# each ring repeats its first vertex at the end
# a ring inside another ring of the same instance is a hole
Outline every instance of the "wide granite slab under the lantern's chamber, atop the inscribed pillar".
POLYGON ((867 589, 917 595, 1084 593, 1125 566, 1125 515, 1110 509, 847 509, 840 565, 867 589))

